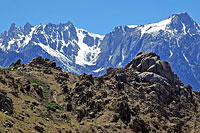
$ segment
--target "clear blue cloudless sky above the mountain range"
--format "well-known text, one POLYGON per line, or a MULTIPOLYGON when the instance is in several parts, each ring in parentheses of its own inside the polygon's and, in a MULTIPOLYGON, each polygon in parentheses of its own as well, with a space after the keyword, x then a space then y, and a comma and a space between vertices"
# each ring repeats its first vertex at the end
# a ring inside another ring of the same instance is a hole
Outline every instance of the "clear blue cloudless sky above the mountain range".
POLYGON ((106 34, 118 25, 158 22, 181 12, 200 23, 200 0, 1 0, 0 5, 0 32, 11 23, 71 21, 76 27, 106 34))

